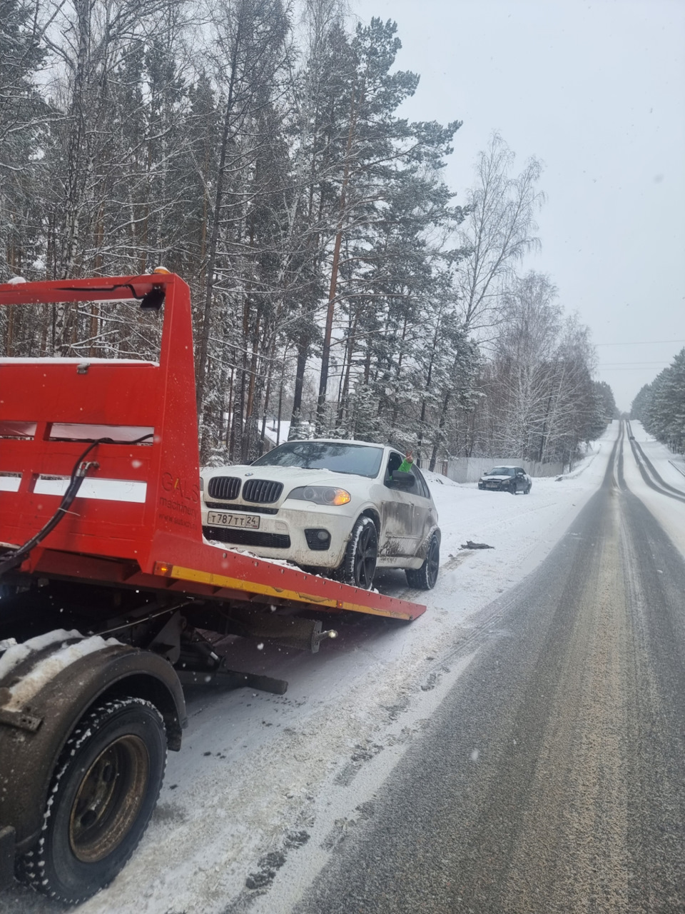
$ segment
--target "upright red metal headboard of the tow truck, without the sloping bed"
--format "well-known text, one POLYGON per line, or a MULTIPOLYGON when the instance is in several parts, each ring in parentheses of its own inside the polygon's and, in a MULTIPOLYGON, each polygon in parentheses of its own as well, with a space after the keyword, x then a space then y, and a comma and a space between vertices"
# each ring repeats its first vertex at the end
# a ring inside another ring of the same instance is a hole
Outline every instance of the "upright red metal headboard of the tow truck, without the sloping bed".
MULTIPOLYGON (((179 525, 201 541, 195 373, 188 287, 172 274, 0 287, 0 305, 131 299, 166 292, 159 364, 100 359, 0 360, 0 423, 36 422, 33 438, 0 439, 0 472, 22 473, 0 492, 0 539, 21 543, 46 523, 58 496, 34 492, 40 474, 71 473, 84 441, 50 441, 53 423, 152 427, 152 444, 99 444, 94 478, 147 484, 143 505, 77 498, 46 546, 136 559, 152 567, 156 530, 179 525), (87 370, 79 364, 88 363, 87 370)), ((85 485, 85 484, 84 484, 85 485)))

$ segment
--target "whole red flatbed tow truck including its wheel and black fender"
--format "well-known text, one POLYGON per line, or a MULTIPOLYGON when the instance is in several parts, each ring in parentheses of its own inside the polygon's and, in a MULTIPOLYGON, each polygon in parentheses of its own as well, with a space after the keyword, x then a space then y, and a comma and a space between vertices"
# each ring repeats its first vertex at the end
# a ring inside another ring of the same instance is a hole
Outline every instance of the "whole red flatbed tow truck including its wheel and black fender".
POLYGON ((231 670, 216 636, 317 650, 335 634, 321 611, 425 611, 205 542, 178 276, 0 287, 0 313, 53 327, 122 304, 152 315, 158 359, 0 358, 0 887, 16 876, 69 904, 138 845, 181 748, 184 685, 285 691, 231 670))

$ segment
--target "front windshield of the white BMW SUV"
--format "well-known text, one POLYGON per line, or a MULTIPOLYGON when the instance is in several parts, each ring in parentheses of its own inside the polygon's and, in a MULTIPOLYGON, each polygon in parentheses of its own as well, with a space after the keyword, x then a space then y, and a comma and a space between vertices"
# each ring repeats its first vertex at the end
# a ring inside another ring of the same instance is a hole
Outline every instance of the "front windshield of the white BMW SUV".
POLYGON ((373 478, 378 474, 383 449, 334 441, 287 441, 253 466, 301 466, 306 470, 331 470, 373 478))

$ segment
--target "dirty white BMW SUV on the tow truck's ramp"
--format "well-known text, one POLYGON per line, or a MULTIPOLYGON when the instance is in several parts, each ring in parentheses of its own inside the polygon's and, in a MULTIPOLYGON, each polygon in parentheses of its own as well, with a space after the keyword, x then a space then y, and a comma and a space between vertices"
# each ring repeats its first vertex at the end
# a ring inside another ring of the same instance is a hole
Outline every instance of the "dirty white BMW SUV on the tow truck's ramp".
POLYGON ((264 558, 286 558, 369 589, 376 568, 406 569, 435 586, 437 510, 421 471, 365 441, 287 441, 250 465, 207 468, 205 537, 264 558))

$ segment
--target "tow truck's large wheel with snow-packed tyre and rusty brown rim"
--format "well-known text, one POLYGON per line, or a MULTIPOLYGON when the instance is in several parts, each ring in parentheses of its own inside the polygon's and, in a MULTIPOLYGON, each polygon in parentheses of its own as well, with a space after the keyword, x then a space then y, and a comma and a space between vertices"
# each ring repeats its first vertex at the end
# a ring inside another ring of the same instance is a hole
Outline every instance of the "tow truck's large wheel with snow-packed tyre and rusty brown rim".
POLYGON ((147 828, 166 766, 163 718, 142 698, 112 698, 81 719, 59 757, 43 829, 17 877, 69 905, 108 885, 147 828))

